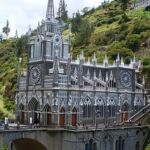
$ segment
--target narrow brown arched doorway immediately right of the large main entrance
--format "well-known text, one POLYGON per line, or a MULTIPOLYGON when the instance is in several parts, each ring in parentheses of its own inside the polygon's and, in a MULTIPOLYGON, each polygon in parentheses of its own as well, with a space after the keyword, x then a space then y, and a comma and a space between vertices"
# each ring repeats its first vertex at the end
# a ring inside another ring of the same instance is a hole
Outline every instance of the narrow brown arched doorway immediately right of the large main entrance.
POLYGON ((51 107, 48 104, 44 107, 44 112, 46 113, 46 125, 51 125, 52 124, 51 107))

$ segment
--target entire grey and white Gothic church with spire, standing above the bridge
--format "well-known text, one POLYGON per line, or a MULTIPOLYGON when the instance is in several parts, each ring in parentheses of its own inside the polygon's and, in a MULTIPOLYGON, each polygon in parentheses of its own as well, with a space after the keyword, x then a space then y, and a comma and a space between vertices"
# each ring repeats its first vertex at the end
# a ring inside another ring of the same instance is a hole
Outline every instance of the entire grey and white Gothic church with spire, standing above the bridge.
MULTIPOLYGON (((69 39, 69 38, 68 38, 69 39)), ((28 39, 27 73, 18 71, 17 118, 43 126, 99 126, 124 122, 145 106, 144 80, 138 83, 140 62, 102 64, 96 54, 72 60, 49 0, 46 19, 28 39)), ((19 67, 21 68, 21 61, 19 67)))

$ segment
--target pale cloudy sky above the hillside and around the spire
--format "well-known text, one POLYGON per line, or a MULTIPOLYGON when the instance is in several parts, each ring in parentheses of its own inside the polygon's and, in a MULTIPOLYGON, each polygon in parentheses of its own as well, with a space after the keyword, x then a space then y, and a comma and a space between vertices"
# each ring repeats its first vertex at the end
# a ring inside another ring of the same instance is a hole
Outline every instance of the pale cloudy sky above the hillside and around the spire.
MULTIPOLYGON (((48 0, 0 0, 0 33, 6 20, 10 22, 13 36, 16 29, 19 35, 28 30, 29 25, 35 28, 38 21, 45 19, 48 0)), ((65 0, 69 15, 82 8, 97 7, 103 0, 65 0)), ((58 10, 59 0, 54 0, 55 12, 58 10)))

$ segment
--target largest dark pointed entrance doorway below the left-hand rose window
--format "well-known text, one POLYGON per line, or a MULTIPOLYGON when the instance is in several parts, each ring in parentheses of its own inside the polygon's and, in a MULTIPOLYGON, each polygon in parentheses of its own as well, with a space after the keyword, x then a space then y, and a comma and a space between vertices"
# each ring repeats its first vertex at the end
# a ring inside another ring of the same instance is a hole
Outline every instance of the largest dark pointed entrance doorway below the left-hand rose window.
POLYGON ((32 120, 33 120, 33 124, 38 124, 40 123, 40 104, 39 102, 33 98, 29 104, 28 104, 28 107, 29 107, 29 111, 32 112, 32 120))

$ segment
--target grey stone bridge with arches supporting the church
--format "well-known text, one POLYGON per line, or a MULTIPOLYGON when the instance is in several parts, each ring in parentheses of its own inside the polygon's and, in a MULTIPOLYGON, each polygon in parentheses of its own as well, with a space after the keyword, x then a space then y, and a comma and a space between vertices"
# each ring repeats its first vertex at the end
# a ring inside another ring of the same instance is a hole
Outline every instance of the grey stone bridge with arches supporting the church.
POLYGON ((9 150, 142 150, 149 129, 149 126, 121 126, 78 130, 71 128, 1 130, 0 145, 1 147, 8 145, 9 150))

